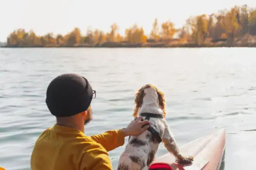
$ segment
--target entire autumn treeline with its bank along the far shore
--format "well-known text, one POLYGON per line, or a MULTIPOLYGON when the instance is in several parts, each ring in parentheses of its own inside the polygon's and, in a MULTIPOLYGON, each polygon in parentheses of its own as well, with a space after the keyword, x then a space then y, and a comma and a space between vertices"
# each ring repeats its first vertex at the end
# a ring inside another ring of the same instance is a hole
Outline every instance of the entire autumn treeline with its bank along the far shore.
POLYGON ((160 24, 154 20, 146 36, 142 27, 134 24, 125 36, 118 33, 116 23, 110 32, 79 28, 57 36, 48 33, 37 36, 32 30, 17 29, 7 37, 6 47, 198 47, 198 46, 256 46, 256 9, 247 5, 220 10, 216 14, 189 17, 182 28, 171 21, 160 24), (178 38, 173 38, 178 35, 178 38))

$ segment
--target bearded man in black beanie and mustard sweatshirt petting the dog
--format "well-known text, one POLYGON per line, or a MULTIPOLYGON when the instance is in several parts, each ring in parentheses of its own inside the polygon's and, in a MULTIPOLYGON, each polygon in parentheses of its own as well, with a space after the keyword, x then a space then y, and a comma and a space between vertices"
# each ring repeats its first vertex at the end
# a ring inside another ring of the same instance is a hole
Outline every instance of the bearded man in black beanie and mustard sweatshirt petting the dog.
POLYGON ((107 151, 122 146, 126 136, 149 128, 142 128, 149 121, 138 117, 126 128, 86 136, 84 125, 92 120, 95 97, 96 91, 83 76, 63 74, 52 80, 45 101, 57 123, 36 140, 31 170, 112 170, 107 151))

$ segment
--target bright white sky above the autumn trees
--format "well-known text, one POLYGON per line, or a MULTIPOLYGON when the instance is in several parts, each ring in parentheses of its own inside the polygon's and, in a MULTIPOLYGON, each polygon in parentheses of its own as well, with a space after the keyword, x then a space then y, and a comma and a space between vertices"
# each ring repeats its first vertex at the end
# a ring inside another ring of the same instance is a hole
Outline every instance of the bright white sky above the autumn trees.
POLYGON ((109 31, 116 22, 120 34, 137 23, 149 34, 154 19, 170 19, 182 27, 190 15, 211 14, 234 5, 256 7, 256 0, 0 0, 0 42, 17 28, 33 29, 36 34, 66 34, 74 27, 109 31))

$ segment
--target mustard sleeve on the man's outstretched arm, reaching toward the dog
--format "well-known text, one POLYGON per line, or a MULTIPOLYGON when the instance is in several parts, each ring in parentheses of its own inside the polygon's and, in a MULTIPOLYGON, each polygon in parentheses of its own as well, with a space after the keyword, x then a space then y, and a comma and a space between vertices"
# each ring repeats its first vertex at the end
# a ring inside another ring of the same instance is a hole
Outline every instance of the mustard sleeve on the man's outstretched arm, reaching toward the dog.
POLYGON ((102 134, 90 136, 95 142, 102 145, 107 151, 112 151, 125 143, 125 133, 122 129, 106 131, 102 134))

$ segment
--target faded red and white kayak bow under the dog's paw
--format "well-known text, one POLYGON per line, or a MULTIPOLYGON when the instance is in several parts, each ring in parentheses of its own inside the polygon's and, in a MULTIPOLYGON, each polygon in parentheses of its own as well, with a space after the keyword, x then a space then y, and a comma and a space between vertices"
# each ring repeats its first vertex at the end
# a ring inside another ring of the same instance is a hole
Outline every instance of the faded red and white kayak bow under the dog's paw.
POLYGON ((225 129, 218 129, 180 148, 183 155, 194 156, 190 165, 176 163, 174 156, 168 153, 154 160, 149 170, 220 170, 225 160, 225 139, 225 129))

